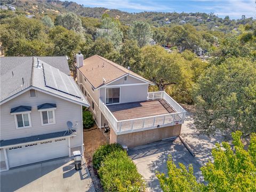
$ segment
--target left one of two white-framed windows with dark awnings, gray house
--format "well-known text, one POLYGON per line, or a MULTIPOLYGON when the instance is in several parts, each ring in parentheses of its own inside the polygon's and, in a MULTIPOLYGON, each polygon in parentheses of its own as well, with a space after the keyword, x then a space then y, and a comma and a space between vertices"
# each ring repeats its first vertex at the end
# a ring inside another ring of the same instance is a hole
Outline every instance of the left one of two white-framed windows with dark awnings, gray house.
POLYGON ((11 114, 14 115, 17 129, 31 127, 30 112, 30 106, 18 106, 11 109, 11 114))

